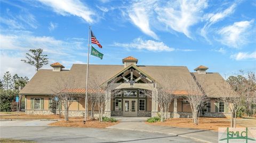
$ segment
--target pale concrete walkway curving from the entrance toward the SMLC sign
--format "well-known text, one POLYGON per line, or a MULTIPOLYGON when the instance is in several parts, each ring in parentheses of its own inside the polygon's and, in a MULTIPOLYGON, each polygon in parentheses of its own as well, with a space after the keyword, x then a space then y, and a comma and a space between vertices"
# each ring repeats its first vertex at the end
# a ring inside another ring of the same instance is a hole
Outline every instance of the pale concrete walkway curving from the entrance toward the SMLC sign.
POLYGON ((121 121, 119 124, 116 124, 107 128, 165 133, 165 134, 170 134, 172 136, 186 137, 186 138, 190 138, 190 139, 194 139, 202 142, 218 142, 218 132, 200 130, 200 129, 164 127, 164 126, 146 124, 145 122, 122 122, 121 121))

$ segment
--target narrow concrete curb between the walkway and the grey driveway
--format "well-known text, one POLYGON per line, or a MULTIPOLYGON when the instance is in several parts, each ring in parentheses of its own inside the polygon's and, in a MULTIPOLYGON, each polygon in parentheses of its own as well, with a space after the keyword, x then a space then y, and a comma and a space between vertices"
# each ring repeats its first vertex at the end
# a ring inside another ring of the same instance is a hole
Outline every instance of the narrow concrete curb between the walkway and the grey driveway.
POLYGON ((138 130, 138 129, 124 129, 124 128, 113 128, 113 127, 106 127, 108 129, 118 129, 118 130, 130 130, 130 131, 142 131, 142 132, 153 132, 153 133, 162 133, 162 134, 169 134, 171 136, 179 136, 179 137, 184 137, 184 138, 189 138, 189 139, 194 139, 200 142, 207 142, 207 143, 213 143, 211 141, 206 141, 206 140, 202 140, 202 139, 198 139, 198 138, 194 138, 194 137, 190 137, 190 136, 186 136, 186 135, 179 135, 179 134, 175 134, 175 133, 167 133, 167 132, 159 132, 159 131, 149 131, 149 130, 138 130))

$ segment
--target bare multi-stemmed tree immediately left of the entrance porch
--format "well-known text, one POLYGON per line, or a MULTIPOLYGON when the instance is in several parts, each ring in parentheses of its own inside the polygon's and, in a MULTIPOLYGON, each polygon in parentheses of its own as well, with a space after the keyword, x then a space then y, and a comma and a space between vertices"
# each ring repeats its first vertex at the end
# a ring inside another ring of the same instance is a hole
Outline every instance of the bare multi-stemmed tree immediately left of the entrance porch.
POLYGON ((98 105, 100 122, 102 122, 103 109, 105 108, 107 102, 110 102, 108 101, 108 97, 113 98, 117 92, 119 92, 118 89, 115 89, 115 78, 108 81, 105 85, 101 85, 102 81, 103 79, 100 76, 95 76, 89 82, 89 88, 92 93, 91 96, 95 97, 96 103, 98 105))

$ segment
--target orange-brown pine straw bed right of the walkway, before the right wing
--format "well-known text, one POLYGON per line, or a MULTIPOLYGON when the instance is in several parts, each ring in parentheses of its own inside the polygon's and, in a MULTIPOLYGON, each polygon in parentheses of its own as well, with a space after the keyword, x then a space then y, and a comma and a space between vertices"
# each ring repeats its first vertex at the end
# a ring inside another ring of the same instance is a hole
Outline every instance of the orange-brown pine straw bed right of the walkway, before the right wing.
MULTIPOLYGON (((230 127, 230 119, 219 117, 201 117, 199 119, 199 124, 194 125, 191 118, 171 118, 165 122, 147 122, 147 124, 218 131, 219 127, 230 127)), ((255 125, 256 119, 237 119, 236 127, 253 127, 255 125)))

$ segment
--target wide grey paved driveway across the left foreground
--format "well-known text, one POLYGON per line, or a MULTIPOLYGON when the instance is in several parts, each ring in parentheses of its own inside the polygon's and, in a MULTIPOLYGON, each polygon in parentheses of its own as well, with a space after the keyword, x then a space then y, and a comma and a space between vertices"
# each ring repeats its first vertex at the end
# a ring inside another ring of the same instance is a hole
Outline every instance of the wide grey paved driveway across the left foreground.
POLYGON ((197 142, 164 133, 119 129, 47 127, 40 120, 0 121, 0 138, 36 142, 197 142))

